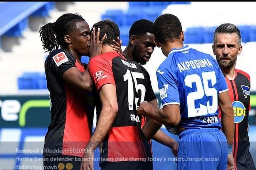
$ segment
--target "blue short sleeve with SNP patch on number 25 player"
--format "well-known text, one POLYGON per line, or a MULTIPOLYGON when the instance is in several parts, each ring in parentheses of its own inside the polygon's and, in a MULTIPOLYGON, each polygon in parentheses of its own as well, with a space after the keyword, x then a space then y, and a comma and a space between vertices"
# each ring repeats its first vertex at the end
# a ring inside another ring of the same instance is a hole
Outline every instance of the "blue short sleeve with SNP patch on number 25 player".
POLYGON ((157 70, 157 81, 162 105, 180 105, 176 71, 161 65, 157 70))

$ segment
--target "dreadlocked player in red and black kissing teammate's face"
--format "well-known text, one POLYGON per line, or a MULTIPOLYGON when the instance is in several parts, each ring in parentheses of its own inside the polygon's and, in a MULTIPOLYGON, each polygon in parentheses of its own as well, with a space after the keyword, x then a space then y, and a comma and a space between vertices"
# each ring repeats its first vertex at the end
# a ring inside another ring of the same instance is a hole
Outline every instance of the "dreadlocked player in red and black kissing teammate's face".
POLYGON ((42 26, 39 33, 44 49, 50 52, 45 60, 45 74, 51 122, 45 136, 44 167, 72 163, 74 169, 79 169, 81 159, 76 158, 83 157, 94 113, 90 99, 93 84, 80 57, 89 52, 90 56, 101 54, 106 35, 102 42, 91 41, 95 39, 95 30, 91 38, 89 25, 76 14, 60 16, 56 22, 42 26))

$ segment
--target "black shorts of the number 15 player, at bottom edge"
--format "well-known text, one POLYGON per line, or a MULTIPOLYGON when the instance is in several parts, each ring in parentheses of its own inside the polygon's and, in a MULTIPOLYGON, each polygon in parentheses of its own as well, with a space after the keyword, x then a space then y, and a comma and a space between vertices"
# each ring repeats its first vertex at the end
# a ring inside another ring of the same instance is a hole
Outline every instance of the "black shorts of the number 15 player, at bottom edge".
POLYGON ((101 170, 153 170, 152 161, 104 162, 101 170))

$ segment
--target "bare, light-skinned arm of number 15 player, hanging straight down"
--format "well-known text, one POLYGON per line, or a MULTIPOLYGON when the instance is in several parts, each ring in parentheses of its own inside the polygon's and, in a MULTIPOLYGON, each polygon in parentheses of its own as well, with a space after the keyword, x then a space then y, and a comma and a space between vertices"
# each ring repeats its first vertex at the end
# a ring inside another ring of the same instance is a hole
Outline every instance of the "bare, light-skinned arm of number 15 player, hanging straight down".
POLYGON ((90 152, 84 152, 85 159, 82 161, 81 170, 93 169, 93 159, 90 158, 93 158, 95 148, 107 135, 118 112, 116 87, 113 84, 103 85, 99 91, 99 97, 102 101, 102 110, 95 131, 86 146, 86 150, 90 152))

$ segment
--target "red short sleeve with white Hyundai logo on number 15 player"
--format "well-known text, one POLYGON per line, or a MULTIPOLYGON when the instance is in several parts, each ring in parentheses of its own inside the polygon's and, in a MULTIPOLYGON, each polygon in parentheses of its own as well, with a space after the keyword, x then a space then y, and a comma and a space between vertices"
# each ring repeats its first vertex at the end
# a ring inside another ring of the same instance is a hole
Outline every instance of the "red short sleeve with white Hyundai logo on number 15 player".
POLYGON ((90 76, 93 79, 93 82, 98 91, 104 84, 113 84, 116 86, 111 59, 99 56, 94 57, 89 62, 88 67, 90 76))

